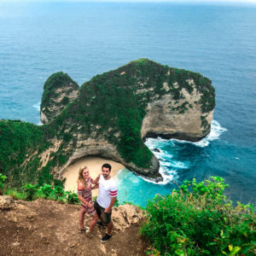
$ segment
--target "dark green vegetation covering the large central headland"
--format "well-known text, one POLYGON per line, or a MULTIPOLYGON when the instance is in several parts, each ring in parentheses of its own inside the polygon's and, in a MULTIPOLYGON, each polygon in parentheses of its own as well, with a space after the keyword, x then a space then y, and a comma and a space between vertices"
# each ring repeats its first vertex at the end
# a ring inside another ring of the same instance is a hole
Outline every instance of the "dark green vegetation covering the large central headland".
MULTIPOLYGON (((183 88, 193 89, 189 79, 195 81, 196 89, 207 93, 208 100, 201 102, 202 113, 215 107, 214 88, 211 81, 199 73, 162 66, 154 61, 141 59, 124 67, 97 75, 84 83, 78 99, 71 103, 56 119, 62 131, 76 120, 84 134, 104 137, 117 146, 127 162, 148 168, 152 153, 143 144, 141 127, 149 102, 166 94, 163 84, 170 84, 175 100, 180 99, 183 88), (173 84, 178 83, 175 88, 173 84), (150 89, 150 90, 149 90, 150 89), (68 120, 64 123, 64 120, 68 120), (99 127, 99 128, 96 128, 99 127)), ((59 127, 57 128, 59 129, 59 127)))

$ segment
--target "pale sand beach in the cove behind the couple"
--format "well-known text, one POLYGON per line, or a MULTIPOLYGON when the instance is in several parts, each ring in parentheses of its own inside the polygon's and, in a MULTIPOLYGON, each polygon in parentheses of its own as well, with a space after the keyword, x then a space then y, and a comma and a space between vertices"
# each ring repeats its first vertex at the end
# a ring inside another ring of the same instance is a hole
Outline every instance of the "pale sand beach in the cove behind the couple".
MULTIPOLYGON (((111 177, 115 177, 119 170, 125 168, 125 166, 113 160, 106 160, 97 156, 85 156, 76 161, 72 166, 68 166, 66 172, 64 172, 62 177, 66 177, 65 190, 77 191, 77 179, 80 167, 87 166, 89 168, 90 177, 96 178, 97 175, 102 172, 102 165, 105 163, 112 166, 111 177)), ((92 190, 92 196, 96 196, 97 193, 98 189, 92 190)))

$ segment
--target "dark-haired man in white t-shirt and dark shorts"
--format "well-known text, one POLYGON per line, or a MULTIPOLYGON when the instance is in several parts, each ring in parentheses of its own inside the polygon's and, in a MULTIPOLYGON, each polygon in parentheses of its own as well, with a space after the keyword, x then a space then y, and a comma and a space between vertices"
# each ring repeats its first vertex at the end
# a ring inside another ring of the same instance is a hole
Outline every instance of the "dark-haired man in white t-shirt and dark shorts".
MULTIPOLYGON (((113 222, 111 220, 112 207, 117 198, 117 185, 110 176, 111 166, 102 166, 102 175, 99 180, 99 194, 94 203, 94 208, 102 220, 107 225, 107 234, 102 237, 102 242, 108 241, 112 237, 113 222)), ((103 225, 101 222, 98 224, 103 225)))

